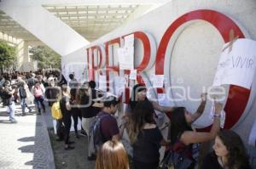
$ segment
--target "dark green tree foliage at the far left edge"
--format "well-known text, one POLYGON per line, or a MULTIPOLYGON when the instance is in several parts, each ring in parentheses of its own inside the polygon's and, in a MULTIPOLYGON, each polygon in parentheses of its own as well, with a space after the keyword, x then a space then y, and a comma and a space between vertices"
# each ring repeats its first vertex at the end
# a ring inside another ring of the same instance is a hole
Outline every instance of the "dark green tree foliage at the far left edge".
POLYGON ((0 65, 9 67, 15 64, 16 48, 7 42, 0 41, 0 65))

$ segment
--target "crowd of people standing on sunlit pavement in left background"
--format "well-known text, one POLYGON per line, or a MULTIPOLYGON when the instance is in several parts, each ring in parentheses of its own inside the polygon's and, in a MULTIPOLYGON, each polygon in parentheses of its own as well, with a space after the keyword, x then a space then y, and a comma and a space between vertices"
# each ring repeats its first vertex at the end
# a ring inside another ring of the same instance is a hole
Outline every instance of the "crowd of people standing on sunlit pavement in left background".
POLYGON ((0 99, 3 106, 7 107, 10 122, 17 122, 15 119, 16 104, 21 105, 21 115, 26 115, 26 108, 30 113, 32 112, 32 108, 27 103, 32 101, 37 104, 38 114, 41 114, 42 109, 45 112, 45 87, 49 86, 51 78, 57 82, 57 73, 47 72, 44 76, 42 71, 35 73, 15 71, 0 75, 0 99))

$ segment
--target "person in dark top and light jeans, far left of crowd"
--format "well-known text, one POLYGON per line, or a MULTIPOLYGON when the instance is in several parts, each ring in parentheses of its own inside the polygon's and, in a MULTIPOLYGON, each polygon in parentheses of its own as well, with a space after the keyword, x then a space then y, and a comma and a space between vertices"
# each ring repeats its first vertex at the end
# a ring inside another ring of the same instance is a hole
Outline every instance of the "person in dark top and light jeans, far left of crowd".
POLYGON ((3 83, 3 91, 2 91, 2 99, 3 105, 8 107, 9 109, 9 121, 12 123, 16 123, 15 119, 15 102, 14 96, 15 89, 11 88, 10 82, 6 81, 3 83))

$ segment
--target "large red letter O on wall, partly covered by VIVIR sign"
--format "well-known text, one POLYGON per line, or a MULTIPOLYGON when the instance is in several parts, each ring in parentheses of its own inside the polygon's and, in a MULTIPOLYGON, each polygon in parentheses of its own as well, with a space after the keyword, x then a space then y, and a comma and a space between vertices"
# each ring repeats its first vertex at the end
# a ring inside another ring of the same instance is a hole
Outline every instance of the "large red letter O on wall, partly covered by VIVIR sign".
MULTIPOLYGON (((221 36, 224 38, 224 42, 229 42, 229 32, 231 29, 234 30, 235 36, 239 38, 244 38, 242 31, 236 25, 236 23, 224 14, 220 14, 213 10, 196 10, 189 12, 188 14, 183 14, 177 20, 175 20, 172 25, 168 27, 164 36, 160 41, 160 45, 157 51, 155 72, 156 75, 164 75, 164 62, 166 56, 166 48, 168 43, 171 41, 177 29, 192 20, 205 20, 215 26, 221 36)), ((171 55, 171 54, 170 54, 171 55)), ((160 92, 160 90, 158 90, 160 92)), ((237 87, 230 85, 229 97, 225 104, 224 110, 226 112, 226 121, 224 128, 229 129, 233 127, 236 122, 240 119, 242 113, 244 112, 247 102, 249 99, 250 90, 243 87, 237 87)), ((203 130, 208 130, 210 127, 204 128, 203 130)))

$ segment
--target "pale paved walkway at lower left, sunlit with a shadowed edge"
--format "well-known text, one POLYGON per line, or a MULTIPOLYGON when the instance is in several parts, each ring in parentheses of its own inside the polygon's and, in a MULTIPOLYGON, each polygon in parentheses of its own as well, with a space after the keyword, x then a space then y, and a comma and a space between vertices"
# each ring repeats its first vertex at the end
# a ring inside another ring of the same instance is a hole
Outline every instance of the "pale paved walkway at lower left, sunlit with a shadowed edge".
POLYGON ((0 168, 55 169, 54 156, 43 115, 32 114, 19 116, 17 106, 16 120, 9 123, 9 115, 0 108, 0 168))

